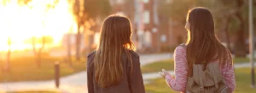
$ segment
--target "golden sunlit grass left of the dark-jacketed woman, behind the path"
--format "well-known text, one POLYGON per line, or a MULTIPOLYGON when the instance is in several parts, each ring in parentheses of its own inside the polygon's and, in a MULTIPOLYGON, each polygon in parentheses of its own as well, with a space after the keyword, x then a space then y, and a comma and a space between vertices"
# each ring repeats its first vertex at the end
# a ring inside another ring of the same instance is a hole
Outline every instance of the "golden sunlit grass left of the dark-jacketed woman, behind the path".
MULTIPOLYGON (((3 62, 0 62, 0 83, 30 80, 48 80, 55 78, 55 61, 61 61, 61 57, 42 57, 41 68, 37 68, 33 57, 14 58, 10 62, 10 72, 3 71, 3 62)), ((73 67, 61 61, 60 75, 67 76, 86 69, 85 59, 80 62, 73 62, 73 67)))

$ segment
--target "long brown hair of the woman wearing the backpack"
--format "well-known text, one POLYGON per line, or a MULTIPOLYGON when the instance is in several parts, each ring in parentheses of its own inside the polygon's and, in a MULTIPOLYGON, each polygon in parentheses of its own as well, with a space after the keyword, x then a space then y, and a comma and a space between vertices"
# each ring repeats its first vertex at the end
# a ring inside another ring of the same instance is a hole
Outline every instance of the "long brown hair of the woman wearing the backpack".
POLYGON ((187 40, 187 60, 189 76, 192 76, 193 64, 205 64, 218 61, 220 66, 232 64, 230 51, 224 47, 214 32, 214 21, 207 8, 193 8, 187 15, 189 22, 187 40))

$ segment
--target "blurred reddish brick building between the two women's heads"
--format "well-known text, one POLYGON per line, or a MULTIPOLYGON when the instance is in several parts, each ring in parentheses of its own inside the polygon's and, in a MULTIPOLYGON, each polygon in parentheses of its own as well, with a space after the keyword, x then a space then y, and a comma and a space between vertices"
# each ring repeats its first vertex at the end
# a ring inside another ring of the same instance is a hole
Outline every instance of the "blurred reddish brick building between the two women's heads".
MULTIPOLYGON (((131 19, 132 40, 137 52, 170 52, 183 43, 186 31, 171 19, 158 14, 158 0, 109 0, 112 14, 124 14, 131 19)), ((185 18, 184 18, 185 19, 185 18)), ((102 21, 90 35, 91 47, 96 47, 102 21)))

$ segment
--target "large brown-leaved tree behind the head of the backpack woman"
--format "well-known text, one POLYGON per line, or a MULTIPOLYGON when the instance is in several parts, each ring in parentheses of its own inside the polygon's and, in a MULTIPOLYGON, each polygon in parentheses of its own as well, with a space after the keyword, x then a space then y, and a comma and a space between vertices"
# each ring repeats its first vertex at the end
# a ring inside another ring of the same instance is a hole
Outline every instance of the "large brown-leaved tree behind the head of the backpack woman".
POLYGON ((245 57, 247 53, 247 4, 245 0, 178 0, 172 3, 164 3, 160 6, 161 13, 170 16, 170 18, 179 25, 184 24, 184 16, 189 8, 201 6, 209 8, 212 11, 217 32, 224 32, 228 48, 230 47, 230 36, 235 32, 236 41, 234 53, 238 57, 245 57), (183 6, 180 6, 180 5, 183 6), (167 6, 167 7, 166 7, 167 6), (184 7, 185 6, 185 7, 184 7), (169 11, 169 12, 166 12, 169 11))

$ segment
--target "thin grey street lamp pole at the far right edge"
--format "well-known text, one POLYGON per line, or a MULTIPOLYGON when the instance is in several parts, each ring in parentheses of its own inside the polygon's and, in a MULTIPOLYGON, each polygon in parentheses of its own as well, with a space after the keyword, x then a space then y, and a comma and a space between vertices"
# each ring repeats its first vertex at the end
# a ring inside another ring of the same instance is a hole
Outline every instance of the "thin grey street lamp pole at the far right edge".
POLYGON ((250 40, 250 63, 252 73, 252 87, 255 88, 254 63, 253 63, 253 1, 249 0, 249 40, 250 40))

